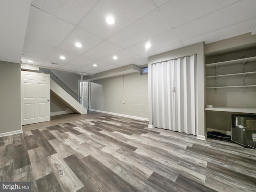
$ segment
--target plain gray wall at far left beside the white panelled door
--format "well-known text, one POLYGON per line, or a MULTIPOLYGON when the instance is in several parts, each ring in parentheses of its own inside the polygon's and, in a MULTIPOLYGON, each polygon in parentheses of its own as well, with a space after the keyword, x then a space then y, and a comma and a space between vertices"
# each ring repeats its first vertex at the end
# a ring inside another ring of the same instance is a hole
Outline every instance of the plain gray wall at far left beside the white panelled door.
POLYGON ((20 64, 0 61, 0 134, 21 130, 20 64))

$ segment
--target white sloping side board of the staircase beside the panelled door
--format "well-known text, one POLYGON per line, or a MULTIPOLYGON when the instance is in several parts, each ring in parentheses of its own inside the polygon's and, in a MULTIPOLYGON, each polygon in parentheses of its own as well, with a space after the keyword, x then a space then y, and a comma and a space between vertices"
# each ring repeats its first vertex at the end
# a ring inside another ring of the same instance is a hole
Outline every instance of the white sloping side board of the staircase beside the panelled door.
POLYGON ((62 89, 54 80, 50 81, 51 90, 57 94, 66 104, 70 106, 70 109, 79 114, 87 114, 86 108, 84 108, 77 100, 75 100, 70 94, 62 89))

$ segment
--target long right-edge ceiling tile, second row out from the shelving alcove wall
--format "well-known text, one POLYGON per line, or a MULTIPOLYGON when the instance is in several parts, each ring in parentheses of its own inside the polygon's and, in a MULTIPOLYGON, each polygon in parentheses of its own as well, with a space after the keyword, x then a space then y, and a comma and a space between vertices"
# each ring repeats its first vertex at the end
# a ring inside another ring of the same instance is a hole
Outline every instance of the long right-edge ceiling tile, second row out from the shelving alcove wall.
POLYGON ((239 1, 221 10, 174 28, 184 41, 256 17, 256 1, 239 1), (226 19, 223 19, 226 18, 226 19))

